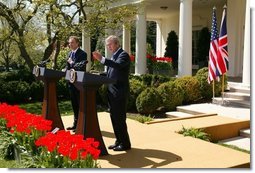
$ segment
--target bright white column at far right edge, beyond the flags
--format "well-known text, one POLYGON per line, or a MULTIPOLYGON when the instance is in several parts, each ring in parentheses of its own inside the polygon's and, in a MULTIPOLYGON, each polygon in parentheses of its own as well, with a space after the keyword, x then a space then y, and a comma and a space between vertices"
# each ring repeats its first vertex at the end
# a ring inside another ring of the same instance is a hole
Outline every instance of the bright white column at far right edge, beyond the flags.
POLYGON ((243 84, 250 86, 250 0, 246 0, 244 53, 243 53, 243 84))

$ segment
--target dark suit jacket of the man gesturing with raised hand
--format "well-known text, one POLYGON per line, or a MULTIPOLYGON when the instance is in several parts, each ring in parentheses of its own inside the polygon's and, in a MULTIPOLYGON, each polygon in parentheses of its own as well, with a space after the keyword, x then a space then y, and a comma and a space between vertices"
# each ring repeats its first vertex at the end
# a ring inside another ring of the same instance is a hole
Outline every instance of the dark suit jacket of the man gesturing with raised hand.
POLYGON ((129 94, 130 57, 128 53, 120 48, 113 56, 113 60, 105 59, 104 65, 107 66, 107 77, 116 80, 116 83, 108 85, 108 91, 111 93, 109 98, 126 102, 129 94))

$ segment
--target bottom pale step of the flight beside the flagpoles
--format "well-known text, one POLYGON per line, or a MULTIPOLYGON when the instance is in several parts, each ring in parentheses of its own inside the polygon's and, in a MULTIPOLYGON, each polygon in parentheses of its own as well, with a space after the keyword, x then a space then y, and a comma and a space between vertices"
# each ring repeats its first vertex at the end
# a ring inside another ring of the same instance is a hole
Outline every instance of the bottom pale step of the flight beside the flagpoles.
POLYGON ((247 100, 241 100, 236 98, 223 98, 215 97, 213 99, 213 104, 223 105, 223 106, 232 106, 232 107, 240 107, 240 108, 250 108, 251 102, 247 100))

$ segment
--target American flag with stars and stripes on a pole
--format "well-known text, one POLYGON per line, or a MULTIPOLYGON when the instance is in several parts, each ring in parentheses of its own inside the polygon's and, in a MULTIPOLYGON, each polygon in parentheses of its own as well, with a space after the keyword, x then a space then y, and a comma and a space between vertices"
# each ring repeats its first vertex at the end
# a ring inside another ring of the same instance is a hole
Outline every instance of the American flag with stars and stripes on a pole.
POLYGON ((217 56, 218 56, 218 29, 216 19, 216 7, 213 8, 212 15, 212 28, 211 28, 211 43, 209 50, 209 64, 208 64, 208 83, 215 80, 219 76, 217 69, 217 56))

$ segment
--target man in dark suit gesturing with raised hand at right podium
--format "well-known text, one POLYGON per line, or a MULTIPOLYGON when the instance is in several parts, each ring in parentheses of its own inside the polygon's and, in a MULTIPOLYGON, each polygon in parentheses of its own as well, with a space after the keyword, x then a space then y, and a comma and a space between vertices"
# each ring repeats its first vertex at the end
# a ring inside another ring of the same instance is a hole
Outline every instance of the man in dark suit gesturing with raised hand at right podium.
POLYGON ((113 57, 107 59, 98 51, 93 52, 93 57, 107 66, 107 77, 115 79, 116 83, 108 85, 108 105, 116 141, 108 149, 124 151, 131 149, 131 143, 126 124, 126 108, 129 95, 129 67, 130 57, 120 47, 116 36, 106 39, 106 46, 113 57))

